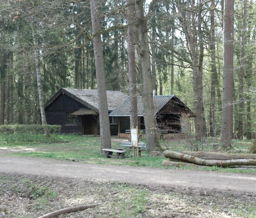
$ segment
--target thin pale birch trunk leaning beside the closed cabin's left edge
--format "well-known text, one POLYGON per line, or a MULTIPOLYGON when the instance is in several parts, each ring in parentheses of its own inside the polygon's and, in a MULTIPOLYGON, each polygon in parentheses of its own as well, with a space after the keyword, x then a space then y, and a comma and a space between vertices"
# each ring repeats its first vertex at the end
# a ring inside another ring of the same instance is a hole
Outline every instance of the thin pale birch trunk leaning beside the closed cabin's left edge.
MULTIPOLYGON (((36 68, 36 78, 37 78, 37 91, 38 91, 38 100, 39 100, 39 107, 40 107, 40 114, 41 114, 41 122, 42 124, 47 124, 45 111, 43 107, 43 91, 42 91, 42 83, 41 83, 41 75, 40 75, 40 66, 39 66, 39 50, 37 49, 37 41, 35 38, 34 30, 32 29, 32 39, 34 44, 34 61, 35 61, 35 68, 36 68)), ((47 132, 45 132, 47 133, 47 132)))

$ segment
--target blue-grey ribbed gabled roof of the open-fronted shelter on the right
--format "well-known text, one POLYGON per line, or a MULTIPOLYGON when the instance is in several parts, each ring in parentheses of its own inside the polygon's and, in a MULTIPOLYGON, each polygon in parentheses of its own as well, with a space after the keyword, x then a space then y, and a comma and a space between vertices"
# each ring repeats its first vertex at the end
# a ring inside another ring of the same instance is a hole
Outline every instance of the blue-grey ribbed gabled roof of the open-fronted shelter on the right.
MULTIPOLYGON (((183 103, 179 98, 175 95, 170 96, 153 96, 153 103, 154 103, 154 115, 157 114, 168 102, 171 100, 175 100, 178 102, 179 105, 183 106, 186 109, 187 113, 190 114, 191 117, 194 116, 193 112, 183 103)), ((138 117, 143 117, 143 102, 142 96, 137 97, 138 101, 138 117)), ((130 116, 130 98, 123 101, 122 104, 117 106, 110 114, 110 117, 129 117, 130 116)))

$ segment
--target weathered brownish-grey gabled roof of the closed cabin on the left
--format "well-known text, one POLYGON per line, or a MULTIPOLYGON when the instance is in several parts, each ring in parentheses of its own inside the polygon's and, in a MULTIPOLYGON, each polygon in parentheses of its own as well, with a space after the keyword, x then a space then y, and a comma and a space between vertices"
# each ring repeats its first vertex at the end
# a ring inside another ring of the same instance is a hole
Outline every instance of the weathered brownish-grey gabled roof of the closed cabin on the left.
MULTIPOLYGON (((44 108, 49 106, 61 93, 66 94, 95 112, 99 112, 98 93, 97 90, 93 89, 61 88, 49 101, 46 102, 44 108)), ((122 91, 107 91, 108 111, 111 112, 114 110, 118 105, 123 103, 127 97, 128 95, 124 94, 122 91)))

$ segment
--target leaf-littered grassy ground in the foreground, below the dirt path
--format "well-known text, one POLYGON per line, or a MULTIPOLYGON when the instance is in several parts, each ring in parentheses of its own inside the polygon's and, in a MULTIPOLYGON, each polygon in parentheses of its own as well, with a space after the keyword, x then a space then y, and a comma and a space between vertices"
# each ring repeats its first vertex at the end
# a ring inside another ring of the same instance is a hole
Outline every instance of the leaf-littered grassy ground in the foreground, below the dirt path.
POLYGON ((36 218, 60 208, 95 203, 96 208, 58 217, 256 218, 255 196, 243 193, 0 175, 1 218, 36 218))

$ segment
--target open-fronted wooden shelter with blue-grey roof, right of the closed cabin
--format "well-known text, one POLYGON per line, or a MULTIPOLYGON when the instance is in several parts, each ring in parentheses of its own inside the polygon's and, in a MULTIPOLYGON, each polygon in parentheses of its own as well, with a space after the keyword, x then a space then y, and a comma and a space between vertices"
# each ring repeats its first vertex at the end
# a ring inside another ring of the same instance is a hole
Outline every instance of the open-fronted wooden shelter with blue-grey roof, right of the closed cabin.
MULTIPOLYGON (((130 99, 117 106, 110 117, 118 117, 118 134, 130 129, 130 99)), ((189 117, 194 113, 176 96, 153 96, 154 115, 158 129, 168 130, 168 133, 189 133, 189 117)), ((144 130, 142 97, 138 96, 139 129, 144 130)))

